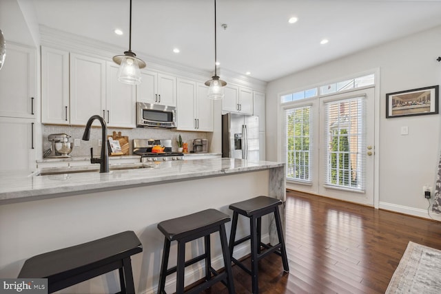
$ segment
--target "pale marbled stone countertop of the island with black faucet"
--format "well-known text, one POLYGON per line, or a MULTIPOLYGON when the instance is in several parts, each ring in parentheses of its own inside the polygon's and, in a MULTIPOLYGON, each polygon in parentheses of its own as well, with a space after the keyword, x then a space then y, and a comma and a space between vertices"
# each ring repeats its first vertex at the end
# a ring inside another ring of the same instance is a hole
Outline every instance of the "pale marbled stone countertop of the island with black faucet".
POLYGON ((33 174, 0 172, 0 204, 223 176, 283 165, 281 162, 212 158, 152 163, 147 168, 114 170, 106 174, 90 171, 39 176, 39 171, 33 174))

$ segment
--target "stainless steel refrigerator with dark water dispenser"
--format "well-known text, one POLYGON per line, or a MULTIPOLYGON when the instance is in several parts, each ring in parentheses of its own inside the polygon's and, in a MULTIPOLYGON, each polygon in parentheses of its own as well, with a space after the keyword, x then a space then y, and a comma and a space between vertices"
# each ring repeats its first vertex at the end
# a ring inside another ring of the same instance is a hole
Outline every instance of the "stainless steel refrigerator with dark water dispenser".
POLYGON ((222 116, 222 157, 259 160, 258 116, 222 116))

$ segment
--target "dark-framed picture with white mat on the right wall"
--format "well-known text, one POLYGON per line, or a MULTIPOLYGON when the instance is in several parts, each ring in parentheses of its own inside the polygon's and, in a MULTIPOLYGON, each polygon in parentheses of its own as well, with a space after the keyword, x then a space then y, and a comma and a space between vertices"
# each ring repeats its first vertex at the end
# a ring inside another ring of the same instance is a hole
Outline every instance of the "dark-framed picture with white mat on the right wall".
POLYGON ((386 118, 438 114, 439 85, 386 94, 386 118))

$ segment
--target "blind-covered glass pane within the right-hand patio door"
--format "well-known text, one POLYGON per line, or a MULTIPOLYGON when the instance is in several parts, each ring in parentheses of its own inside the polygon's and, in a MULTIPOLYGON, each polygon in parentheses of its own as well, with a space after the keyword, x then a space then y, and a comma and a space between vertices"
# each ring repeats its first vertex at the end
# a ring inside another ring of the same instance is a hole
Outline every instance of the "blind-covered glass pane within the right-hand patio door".
POLYGON ((325 103, 326 185, 364 189, 364 121, 364 97, 325 103))

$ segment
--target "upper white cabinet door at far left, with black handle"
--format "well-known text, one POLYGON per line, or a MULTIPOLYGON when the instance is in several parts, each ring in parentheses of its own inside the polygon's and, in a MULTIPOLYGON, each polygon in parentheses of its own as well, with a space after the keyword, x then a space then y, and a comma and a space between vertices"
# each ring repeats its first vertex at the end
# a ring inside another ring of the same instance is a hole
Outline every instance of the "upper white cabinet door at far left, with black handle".
POLYGON ((0 70, 0 116, 34 118, 37 111, 36 50, 8 43, 0 70))

